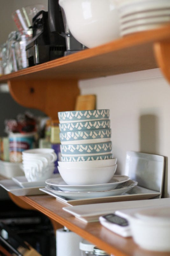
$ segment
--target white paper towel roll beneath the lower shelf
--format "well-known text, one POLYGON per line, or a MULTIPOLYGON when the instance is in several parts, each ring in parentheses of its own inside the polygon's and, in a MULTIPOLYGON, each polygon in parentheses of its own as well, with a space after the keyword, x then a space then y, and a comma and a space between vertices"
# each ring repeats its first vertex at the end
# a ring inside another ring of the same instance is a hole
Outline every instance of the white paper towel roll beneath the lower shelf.
POLYGON ((72 231, 63 228, 56 230, 56 253, 57 256, 80 256, 79 243, 82 237, 72 231))

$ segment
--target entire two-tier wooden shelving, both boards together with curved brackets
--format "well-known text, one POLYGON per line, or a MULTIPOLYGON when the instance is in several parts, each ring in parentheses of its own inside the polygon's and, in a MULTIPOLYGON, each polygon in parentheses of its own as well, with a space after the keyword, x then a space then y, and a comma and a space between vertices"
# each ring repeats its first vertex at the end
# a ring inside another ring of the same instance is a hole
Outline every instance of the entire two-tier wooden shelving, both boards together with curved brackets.
MULTIPOLYGON (((170 83, 170 25, 136 33, 108 44, 52 60, 0 77, 8 82, 12 97, 22 106, 38 108, 57 119, 58 111, 74 110, 78 80, 160 68, 170 83)), ((10 193, 9 193, 10 194, 10 193)), ((64 203, 44 196, 10 194, 18 205, 46 214, 54 227, 66 226, 114 256, 159 256, 140 249, 132 238, 123 238, 100 223, 85 224, 62 210, 64 203)), ((161 253, 170 256, 170 253, 161 253)))

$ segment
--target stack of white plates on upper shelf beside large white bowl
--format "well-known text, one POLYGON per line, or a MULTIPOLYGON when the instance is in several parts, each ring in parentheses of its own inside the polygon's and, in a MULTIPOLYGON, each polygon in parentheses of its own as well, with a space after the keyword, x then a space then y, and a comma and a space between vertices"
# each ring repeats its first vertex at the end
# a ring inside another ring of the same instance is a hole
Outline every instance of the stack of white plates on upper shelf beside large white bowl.
POLYGON ((159 28, 170 22, 169 0, 125 0, 119 5, 120 34, 159 28))

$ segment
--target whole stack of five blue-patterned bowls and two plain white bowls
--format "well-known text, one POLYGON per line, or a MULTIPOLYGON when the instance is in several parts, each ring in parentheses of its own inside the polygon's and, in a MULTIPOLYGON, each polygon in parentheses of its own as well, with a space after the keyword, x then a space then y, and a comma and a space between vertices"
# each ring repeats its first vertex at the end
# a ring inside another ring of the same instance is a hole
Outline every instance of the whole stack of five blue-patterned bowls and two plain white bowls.
POLYGON ((58 113, 58 170, 68 185, 102 184, 113 177, 117 159, 112 155, 109 115, 109 109, 58 113))

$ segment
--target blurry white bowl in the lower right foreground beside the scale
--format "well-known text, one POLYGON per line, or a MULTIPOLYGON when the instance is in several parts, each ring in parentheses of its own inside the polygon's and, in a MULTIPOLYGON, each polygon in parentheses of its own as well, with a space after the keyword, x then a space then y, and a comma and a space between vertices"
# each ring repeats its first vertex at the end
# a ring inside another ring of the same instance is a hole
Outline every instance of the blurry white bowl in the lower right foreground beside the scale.
POLYGON ((140 247, 170 252, 170 207, 139 211, 128 220, 133 239, 140 247))

